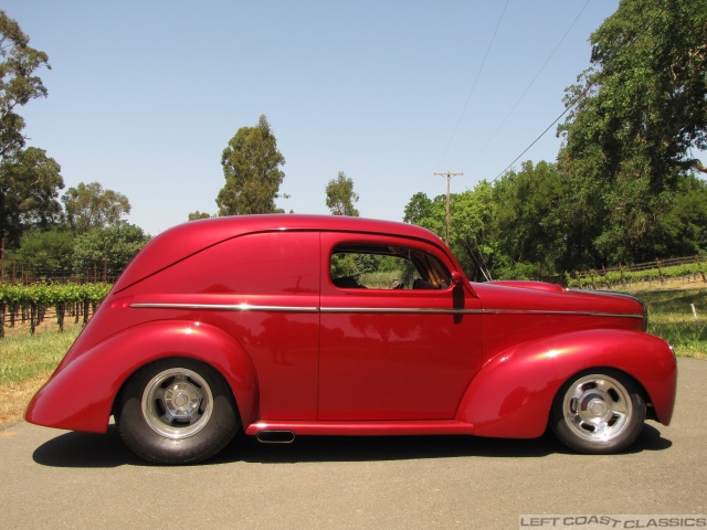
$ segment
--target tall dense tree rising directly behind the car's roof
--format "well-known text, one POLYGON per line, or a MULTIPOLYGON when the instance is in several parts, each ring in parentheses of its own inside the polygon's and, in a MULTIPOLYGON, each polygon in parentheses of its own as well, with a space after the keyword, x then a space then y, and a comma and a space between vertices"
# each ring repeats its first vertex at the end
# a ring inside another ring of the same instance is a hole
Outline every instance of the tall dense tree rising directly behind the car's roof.
POLYGON ((221 156, 225 186, 217 198, 219 215, 275 213, 284 163, 265 116, 255 127, 241 127, 221 156))

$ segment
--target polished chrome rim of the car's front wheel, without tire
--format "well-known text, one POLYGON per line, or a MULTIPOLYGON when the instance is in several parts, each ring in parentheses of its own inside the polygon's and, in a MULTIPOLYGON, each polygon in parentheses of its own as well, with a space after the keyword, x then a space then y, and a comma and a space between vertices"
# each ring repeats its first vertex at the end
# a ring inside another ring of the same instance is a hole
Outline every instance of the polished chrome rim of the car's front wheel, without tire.
POLYGON ((591 442, 609 442, 626 428, 633 405, 629 392, 619 381, 592 374, 570 386, 562 411, 578 436, 591 442))

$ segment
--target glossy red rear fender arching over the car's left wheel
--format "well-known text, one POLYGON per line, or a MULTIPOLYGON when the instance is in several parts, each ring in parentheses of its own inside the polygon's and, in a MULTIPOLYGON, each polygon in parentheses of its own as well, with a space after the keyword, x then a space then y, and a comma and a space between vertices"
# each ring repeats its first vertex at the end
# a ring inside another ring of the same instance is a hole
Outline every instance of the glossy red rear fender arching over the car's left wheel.
POLYGON ((32 399, 25 420, 48 427, 105 433, 115 398, 140 367, 167 357, 210 364, 233 391, 245 425, 255 417, 257 377, 243 348, 225 331, 179 320, 147 322, 114 335, 87 351, 70 353, 32 399))

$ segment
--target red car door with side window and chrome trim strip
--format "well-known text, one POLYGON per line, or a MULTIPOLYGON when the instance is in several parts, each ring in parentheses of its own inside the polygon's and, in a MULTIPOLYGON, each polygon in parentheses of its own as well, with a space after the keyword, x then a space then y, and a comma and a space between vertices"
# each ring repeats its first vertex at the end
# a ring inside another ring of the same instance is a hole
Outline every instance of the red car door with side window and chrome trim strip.
POLYGON ((323 233, 321 251, 318 418, 453 418, 482 353, 481 304, 465 280, 452 285, 453 262, 369 234, 323 233), (374 261, 393 269, 377 285, 376 273, 369 285, 346 275, 374 261))

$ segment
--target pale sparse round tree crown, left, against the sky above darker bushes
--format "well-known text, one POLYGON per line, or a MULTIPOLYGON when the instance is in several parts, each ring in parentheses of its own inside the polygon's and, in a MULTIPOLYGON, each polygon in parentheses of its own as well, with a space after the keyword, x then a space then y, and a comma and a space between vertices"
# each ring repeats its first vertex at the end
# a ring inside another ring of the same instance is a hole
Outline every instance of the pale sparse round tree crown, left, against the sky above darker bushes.
POLYGON ((110 226, 130 213, 130 202, 123 193, 104 190, 98 182, 70 188, 62 197, 68 224, 78 233, 110 226))

